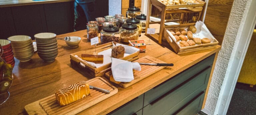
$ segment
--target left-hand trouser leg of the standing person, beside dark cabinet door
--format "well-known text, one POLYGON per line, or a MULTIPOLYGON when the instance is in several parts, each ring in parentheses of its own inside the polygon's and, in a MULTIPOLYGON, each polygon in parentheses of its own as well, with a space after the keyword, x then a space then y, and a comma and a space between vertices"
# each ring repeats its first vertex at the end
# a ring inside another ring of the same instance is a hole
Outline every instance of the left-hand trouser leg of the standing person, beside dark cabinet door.
POLYGON ((74 2, 74 15, 74 32, 79 30, 85 30, 87 24, 86 16, 81 6, 79 6, 76 2, 74 2))

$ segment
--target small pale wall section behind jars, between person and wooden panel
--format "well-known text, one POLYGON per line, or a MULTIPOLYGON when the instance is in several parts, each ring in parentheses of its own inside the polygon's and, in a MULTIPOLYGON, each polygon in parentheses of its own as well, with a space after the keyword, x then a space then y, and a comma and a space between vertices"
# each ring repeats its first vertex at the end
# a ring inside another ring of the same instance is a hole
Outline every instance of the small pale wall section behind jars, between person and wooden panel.
POLYGON ((122 0, 109 0, 108 5, 109 15, 115 16, 115 14, 121 14, 122 0))

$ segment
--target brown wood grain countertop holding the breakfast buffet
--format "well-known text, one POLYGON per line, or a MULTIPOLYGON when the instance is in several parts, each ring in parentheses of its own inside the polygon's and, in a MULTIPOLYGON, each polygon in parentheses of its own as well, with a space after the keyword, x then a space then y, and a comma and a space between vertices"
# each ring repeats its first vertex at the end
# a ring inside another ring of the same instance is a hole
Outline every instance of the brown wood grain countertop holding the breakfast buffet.
MULTIPOLYGON (((1 114, 26 114, 24 107, 27 104, 52 95, 63 87, 93 78, 78 68, 71 67, 70 64, 71 53, 94 47, 86 38, 86 30, 57 37, 66 36, 78 36, 82 40, 78 48, 70 48, 64 40, 58 40, 59 54, 54 62, 44 62, 36 52, 28 62, 19 62, 15 58, 14 80, 9 89, 11 96, 1 105, 1 114)), ((145 40, 147 43, 149 38, 142 35, 139 40, 145 40)), ((177 55, 166 41, 163 41, 161 46, 153 41, 151 44, 153 45, 147 45, 146 53, 139 54, 139 58, 152 56, 167 63, 174 63, 174 66, 166 67, 127 88, 113 84, 118 88, 117 94, 85 109, 80 114, 107 114, 221 49, 221 46, 216 46, 214 49, 177 55)))

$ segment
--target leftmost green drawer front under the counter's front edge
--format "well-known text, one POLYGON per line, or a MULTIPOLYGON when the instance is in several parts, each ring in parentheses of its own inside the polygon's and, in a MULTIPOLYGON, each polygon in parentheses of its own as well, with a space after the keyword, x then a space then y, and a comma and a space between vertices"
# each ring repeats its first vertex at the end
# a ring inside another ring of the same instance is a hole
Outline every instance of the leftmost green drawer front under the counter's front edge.
POLYGON ((143 108, 143 97, 144 94, 134 98, 128 103, 122 105, 116 110, 110 112, 108 115, 132 115, 143 108))

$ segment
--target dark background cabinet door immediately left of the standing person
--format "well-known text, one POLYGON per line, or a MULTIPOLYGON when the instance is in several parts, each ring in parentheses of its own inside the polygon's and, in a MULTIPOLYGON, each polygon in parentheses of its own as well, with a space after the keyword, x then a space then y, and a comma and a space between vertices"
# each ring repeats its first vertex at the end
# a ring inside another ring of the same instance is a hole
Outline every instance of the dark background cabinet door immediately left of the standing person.
POLYGON ((74 9, 70 2, 44 4, 44 10, 48 32, 57 35, 73 32, 74 9))

